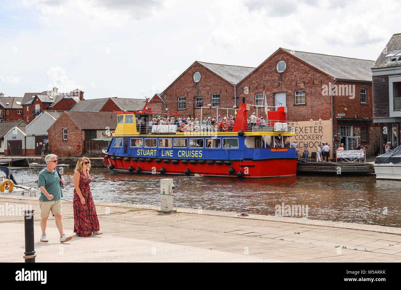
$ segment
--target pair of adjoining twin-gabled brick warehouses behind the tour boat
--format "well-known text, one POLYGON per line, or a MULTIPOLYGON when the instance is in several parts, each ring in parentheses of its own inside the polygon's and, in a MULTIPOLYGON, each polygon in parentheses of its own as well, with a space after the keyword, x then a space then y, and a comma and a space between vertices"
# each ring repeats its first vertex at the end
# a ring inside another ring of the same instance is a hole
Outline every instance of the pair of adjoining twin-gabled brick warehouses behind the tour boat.
MULTIPOLYGON (((239 104, 243 97, 246 103, 263 105, 262 99, 255 100, 255 95, 265 92, 269 95, 268 105, 282 103, 288 107, 287 119, 296 122, 297 133, 303 135, 298 136, 299 145, 304 145, 304 137, 309 147, 321 141, 333 145, 332 136, 339 132, 341 139, 334 145, 344 143, 345 149, 356 149, 358 138, 358 143, 365 144, 367 154, 373 155, 379 148, 380 133, 372 123, 373 63, 279 48, 257 68, 194 62, 159 98, 166 101, 170 111, 178 110, 180 116, 199 118, 196 98, 203 97, 204 103, 210 103, 212 95, 219 95, 220 107, 231 108, 234 99, 239 104), (243 68, 242 74, 238 73, 239 68, 243 68), (194 81, 196 72, 201 75, 198 82, 194 81), (330 85, 333 85, 334 122, 331 122, 330 85), (182 97, 186 101, 185 109, 179 107, 182 97)), ((262 106, 258 110, 259 115, 264 114, 262 106)), ((203 109, 203 115, 213 117, 215 111, 203 109)))

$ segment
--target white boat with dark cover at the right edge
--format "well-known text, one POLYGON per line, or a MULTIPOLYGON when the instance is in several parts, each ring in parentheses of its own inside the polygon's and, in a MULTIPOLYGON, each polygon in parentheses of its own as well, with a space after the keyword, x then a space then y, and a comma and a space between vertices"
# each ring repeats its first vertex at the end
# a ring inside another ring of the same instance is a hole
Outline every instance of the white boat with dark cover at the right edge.
POLYGON ((376 179, 401 180, 401 145, 375 160, 376 179))

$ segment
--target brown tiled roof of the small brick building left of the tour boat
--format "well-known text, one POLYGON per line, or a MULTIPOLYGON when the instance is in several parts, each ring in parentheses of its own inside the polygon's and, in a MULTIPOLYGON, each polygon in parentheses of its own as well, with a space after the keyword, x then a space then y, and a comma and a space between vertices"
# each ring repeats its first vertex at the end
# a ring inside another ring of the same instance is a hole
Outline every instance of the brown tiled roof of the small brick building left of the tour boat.
POLYGON ((117 115, 110 112, 65 111, 64 114, 69 116, 83 130, 105 130, 106 127, 115 130, 117 127, 117 115))

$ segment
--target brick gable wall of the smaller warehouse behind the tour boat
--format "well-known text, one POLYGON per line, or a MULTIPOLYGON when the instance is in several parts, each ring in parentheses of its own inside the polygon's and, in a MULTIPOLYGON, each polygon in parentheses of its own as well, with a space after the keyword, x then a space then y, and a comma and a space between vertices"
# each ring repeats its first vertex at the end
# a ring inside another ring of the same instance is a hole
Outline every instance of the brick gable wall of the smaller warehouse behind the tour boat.
MULTIPOLYGON (((169 111, 177 111, 180 117, 201 118, 201 109, 195 109, 195 103, 186 103, 184 110, 178 110, 178 97, 185 97, 185 101, 194 102, 196 97, 203 97, 203 106, 207 107, 207 103, 211 102, 213 94, 220 94, 220 107, 232 108, 234 105, 234 85, 228 83, 224 79, 211 73, 207 68, 198 62, 194 62, 180 78, 166 89, 163 98, 166 101, 166 107, 169 111), (193 74, 201 73, 201 80, 195 83, 193 74), (229 102, 229 103, 225 103, 229 102)), ((164 109, 164 104, 163 109, 164 109)), ((156 106, 149 105, 152 110, 156 111, 156 106)), ((234 111, 231 112, 233 114, 234 111)), ((230 113, 229 113, 230 114, 230 113)), ((203 116, 215 116, 216 109, 203 109, 203 116)))

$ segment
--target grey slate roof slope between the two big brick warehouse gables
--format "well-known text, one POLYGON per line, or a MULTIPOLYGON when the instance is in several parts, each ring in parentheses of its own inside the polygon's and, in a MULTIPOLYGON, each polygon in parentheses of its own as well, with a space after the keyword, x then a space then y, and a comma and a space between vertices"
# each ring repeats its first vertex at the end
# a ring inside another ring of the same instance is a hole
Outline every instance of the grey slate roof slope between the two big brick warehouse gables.
POLYGON ((209 62, 201 62, 209 70, 211 70, 216 75, 219 75, 226 81, 229 81, 233 85, 237 85, 243 78, 245 78, 249 73, 251 73, 255 68, 248 66, 237 66, 237 65, 227 65, 227 64, 215 64, 209 62))

